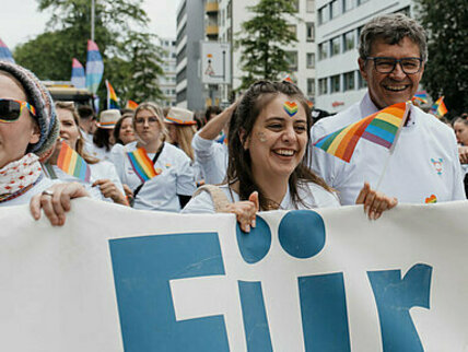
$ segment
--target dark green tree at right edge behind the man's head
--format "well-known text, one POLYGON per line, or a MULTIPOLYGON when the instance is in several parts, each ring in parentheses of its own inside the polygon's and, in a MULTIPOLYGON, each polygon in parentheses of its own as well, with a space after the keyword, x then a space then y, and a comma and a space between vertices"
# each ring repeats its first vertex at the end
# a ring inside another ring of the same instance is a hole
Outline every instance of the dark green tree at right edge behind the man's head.
POLYGON ((448 114, 468 112, 468 7, 459 0, 418 0, 417 16, 429 34, 429 60, 422 84, 448 114))

